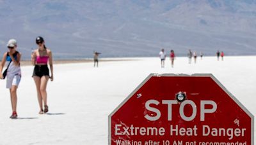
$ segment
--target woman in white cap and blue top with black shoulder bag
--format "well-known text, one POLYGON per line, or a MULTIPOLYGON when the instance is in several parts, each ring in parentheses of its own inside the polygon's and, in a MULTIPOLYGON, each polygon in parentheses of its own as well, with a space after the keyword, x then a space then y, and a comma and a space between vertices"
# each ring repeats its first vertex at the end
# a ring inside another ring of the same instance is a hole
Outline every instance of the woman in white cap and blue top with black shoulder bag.
POLYGON ((6 88, 10 90, 10 97, 12 102, 12 116, 10 118, 17 118, 17 88, 20 83, 20 58, 21 53, 17 52, 17 41, 10 39, 7 43, 8 52, 4 53, 3 60, 0 66, 0 78, 6 78, 6 88), (2 74, 4 64, 6 70, 2 74))

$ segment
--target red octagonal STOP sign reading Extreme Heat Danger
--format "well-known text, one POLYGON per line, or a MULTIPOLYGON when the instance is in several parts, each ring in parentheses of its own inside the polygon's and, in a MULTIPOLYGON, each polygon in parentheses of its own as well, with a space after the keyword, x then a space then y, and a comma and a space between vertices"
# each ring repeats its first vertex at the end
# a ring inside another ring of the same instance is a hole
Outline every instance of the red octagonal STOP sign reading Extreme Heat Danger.
POLYGON ((253 115, 212 74, 150 74, 109 115, 109 144, 253 144, 253 115))

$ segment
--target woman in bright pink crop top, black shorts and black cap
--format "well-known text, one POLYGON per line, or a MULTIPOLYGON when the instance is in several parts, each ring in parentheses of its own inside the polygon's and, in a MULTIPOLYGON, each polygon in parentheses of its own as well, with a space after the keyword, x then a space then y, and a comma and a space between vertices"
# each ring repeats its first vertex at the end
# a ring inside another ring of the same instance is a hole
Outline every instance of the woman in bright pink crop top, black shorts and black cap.
POLYGON ((46 86, 49 79, 53 81, 52 52, 45 46, 44 38, 38 36, 36 38, 36 44, 38 45, 38 48, 31 54, 31 62, 33 66, 35 66, 32 77, 36 85, 37 97, 40 107, 39 114, 44 114, 49 111, 47 105, 46 86), (49 74, 47 65, 48 60, 51 69, 51 76, 49 74))

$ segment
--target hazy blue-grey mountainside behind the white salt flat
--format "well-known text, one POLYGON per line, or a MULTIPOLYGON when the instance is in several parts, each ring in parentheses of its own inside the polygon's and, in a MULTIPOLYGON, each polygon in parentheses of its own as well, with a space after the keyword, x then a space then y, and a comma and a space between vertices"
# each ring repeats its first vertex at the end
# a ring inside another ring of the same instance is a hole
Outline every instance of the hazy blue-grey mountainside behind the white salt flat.
MULTIPOLYGON (((57 58, 157 56, 161 48, 256 55, 256 2, 0 1, 0 46, 16 38, 29 58, 36 36, 57 58)), ((3 53, 4 49, 0 49, 3 53)))

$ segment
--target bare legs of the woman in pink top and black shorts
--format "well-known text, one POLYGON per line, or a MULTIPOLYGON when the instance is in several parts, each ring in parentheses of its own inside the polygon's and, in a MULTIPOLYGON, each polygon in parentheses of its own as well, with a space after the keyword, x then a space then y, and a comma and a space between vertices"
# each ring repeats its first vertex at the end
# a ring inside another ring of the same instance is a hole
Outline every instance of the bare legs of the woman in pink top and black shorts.
POLYGON ((49 76, 42 76, 42 78, 38 76, 33 76, 35 84, 36 84, 36 91, 37 91, 37 97, 38 97, 38 103, 40 107, 39 114, 43 114, 43 102, 44 106, 47 106, 47 82, 49 80, 49 76))

